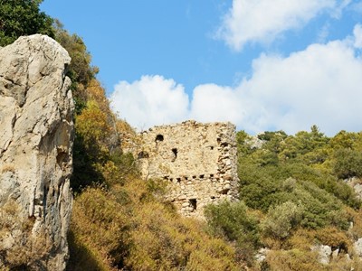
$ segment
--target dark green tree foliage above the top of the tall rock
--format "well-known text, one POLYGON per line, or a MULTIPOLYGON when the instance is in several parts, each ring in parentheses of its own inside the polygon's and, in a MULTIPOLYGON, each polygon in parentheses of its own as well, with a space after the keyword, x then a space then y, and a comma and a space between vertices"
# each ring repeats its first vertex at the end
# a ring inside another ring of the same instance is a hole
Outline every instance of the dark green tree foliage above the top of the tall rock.
POLYGON ((52 17, 40 11, 43 0, 0 0, 0 46, 34 33, 54 37, 52 17))

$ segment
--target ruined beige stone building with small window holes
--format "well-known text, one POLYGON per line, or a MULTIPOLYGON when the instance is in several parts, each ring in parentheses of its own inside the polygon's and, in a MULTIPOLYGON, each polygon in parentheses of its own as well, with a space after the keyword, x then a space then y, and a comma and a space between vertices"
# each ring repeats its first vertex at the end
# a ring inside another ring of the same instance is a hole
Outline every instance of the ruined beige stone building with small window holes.
POLYGON ((235 126, 192 120, 155 126, 140 134, 138 163, 144 179, 168 182, 167 201, 182 215, 203 218, 209 203, 236 201, 235 126))

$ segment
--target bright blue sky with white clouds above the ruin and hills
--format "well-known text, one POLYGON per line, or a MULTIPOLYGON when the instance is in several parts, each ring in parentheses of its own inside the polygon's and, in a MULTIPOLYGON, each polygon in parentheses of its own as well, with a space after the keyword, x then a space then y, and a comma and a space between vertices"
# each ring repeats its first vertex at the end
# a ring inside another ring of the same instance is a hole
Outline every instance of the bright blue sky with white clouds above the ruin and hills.
POLYGON ((362 1, 51 1, 132 126, 360 131, 362 1), (64 8, 66 7, 66 8, 64 8))

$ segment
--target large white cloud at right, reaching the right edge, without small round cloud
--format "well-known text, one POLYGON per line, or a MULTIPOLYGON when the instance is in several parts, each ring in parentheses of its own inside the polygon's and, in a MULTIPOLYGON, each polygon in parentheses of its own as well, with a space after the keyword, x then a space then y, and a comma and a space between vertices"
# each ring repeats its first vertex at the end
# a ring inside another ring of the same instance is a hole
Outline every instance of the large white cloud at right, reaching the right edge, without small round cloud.
POLYGON ((253 61, 252 78, 244 79, 234 89, 197 87, 192 116, 210 120, 216 115, 218 103, 203 105, 200 101, 220 101, 223 119, 230 108, 229 120, 254 133, 270 129, 295 133, 309 130, 313 124, 329 135, 341 129, 360 130, 362 61, 353 46, 360 41, 360 30, 357 25, 352 39, 355 42, 348 37, 345 41, 312 44, 286 58, 262 55, 253 61), (214 114, 207 112, 208 108, 214 114), (207 113, 203 116, 197 112, 207 113))

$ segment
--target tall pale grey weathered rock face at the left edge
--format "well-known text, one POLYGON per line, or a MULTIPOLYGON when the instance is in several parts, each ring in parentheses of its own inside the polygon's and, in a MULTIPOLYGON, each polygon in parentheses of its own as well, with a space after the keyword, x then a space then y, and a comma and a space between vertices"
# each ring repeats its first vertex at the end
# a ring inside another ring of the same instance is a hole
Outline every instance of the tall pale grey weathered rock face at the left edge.
POLYGON ((0 269, 63 270, 72 168, 68 52, 43 35, 0 48, 0 269))

